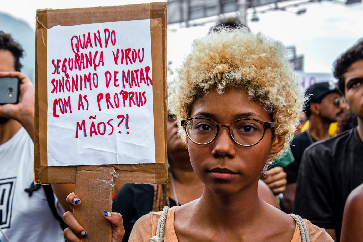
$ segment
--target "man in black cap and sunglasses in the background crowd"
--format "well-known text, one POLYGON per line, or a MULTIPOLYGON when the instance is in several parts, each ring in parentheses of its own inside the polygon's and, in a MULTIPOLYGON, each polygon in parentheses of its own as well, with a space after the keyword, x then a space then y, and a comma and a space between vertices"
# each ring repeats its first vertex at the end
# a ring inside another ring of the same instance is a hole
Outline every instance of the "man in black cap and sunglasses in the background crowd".
POLYGON ((337 122, 338 116, 343 113, 340 106, 341 95, 333 82, 315 83, 306 90, 306 93, 310 95, 306 104, 306 116, 310 120, 309 128, 291 141, 291 153, 295 160, 284 167, 287 173, 287 185, 283 193, 283 206, 287 213, 293 210, 296 180, 303 152, 314 142, 329 138, 329 125, 337 122))

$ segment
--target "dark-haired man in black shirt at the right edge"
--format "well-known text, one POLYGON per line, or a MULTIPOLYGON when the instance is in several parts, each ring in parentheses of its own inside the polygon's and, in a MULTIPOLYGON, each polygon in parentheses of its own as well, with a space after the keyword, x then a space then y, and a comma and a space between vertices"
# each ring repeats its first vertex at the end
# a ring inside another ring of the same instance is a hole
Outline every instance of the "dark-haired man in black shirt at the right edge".
MULTIPOLYGON (((340 241, 347 197, 363 183, 363 40, 335 61, 334 77, 358 117, 358 127, 305 150, 297 179, 294 213, 325 228, 335 241, 340 241)), ((348 231, 357 232, 360 231, 356 227, 348 231)))

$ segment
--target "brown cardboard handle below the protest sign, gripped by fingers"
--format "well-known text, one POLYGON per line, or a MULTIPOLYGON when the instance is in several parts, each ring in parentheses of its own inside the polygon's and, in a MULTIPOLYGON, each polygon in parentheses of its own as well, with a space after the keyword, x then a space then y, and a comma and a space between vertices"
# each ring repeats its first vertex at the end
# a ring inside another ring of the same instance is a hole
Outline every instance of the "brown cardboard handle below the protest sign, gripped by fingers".
POLYGON ((81 205, 74 207, 74 217, 86 230, 86 242, 111 242, 111 224, 103 218, 103 211, 112 212, 112 168, 98 171, 77 170, 75 193, 81 205))

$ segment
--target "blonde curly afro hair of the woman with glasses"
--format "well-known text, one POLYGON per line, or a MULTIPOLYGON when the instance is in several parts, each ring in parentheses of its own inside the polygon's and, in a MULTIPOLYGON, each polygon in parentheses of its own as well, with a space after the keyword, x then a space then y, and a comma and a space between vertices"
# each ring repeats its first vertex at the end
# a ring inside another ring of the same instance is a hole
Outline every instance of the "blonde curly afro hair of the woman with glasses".
MULTIPOLYGON (((283 150, 288 147, 305 97, 280 41, 242 27, 215 28, 204 38, 193 41, 192 53, 177 72, 179 75, 168 91, 168 102, 184 142, 187 136, 180 121, 189 118, 193 103, 209 90, 223 93, 237 88, 277 121, 274 135, 285 136, 283 150)), ((268 161, 280 154, 270 155, 268 161)))

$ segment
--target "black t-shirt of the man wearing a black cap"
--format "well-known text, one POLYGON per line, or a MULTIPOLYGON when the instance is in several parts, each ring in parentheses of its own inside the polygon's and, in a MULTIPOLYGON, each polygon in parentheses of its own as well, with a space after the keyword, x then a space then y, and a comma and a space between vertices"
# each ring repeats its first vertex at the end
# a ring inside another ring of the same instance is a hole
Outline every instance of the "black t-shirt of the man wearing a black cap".
MULTIPOLYGON (((316 142, 314 138, 311 139, 316 142)), ((290 148, 291 153, 294 156, 294 161, 284 167, 284 172, 286 172, 287 174, 287 184, 296 182, 302 154, 304 153, 305 149, 311 144, 311 140, 309 139, 309 136, 307 136, 306 131, 296 135, 291 141, 290 148)))

